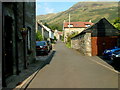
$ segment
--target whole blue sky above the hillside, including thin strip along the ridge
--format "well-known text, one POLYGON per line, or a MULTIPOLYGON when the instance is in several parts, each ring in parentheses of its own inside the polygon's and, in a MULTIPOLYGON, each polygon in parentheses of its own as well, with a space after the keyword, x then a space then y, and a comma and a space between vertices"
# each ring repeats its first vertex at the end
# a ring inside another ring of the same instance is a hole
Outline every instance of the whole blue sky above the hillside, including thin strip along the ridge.
MULTIPOLYGON (((37 0, 36 2, 36 15, 45 15, 49 13, 58 13, 65 11, 72 7, 77 2, 84 2, 90 0, 37 0)), ((91 0, 101 2, 104 0, 91 0)), ((91 2, 90 1, 90 2, 91 2)), ((105 0, 106 1, 119 1, 119 0, 105 0)))

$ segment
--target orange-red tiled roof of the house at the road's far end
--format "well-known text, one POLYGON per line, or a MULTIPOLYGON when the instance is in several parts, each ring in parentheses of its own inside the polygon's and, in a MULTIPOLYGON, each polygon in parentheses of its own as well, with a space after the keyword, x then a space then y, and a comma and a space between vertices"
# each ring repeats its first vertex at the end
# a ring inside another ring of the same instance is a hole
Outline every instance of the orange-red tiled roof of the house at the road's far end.
MULTIPOLYGON (((69 22, 64 23, 64 27, 68 27, 69 22)), ((87 28, 86 25, 93 25, 91 22, 70 22, 73 27, 87 28)))

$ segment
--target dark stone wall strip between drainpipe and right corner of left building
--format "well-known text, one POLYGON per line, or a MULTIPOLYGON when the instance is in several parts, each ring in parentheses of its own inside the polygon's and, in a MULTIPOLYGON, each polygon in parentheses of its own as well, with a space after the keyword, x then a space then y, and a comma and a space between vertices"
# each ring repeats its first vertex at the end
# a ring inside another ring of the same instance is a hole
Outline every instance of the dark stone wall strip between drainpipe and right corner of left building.
MULTIPOLYGON (((27 43, 27 48, 32 50, 33 53, 27 54, 28 63, 32 63, 35 60, 36 56, 36 10, 35 2, 25 2, 25 25, 29 27, 29 44, 27 43)), ((27 37, 28 39, 28 37, 27 37)), ((28 41, 28 40, 27 40, 28 41)))

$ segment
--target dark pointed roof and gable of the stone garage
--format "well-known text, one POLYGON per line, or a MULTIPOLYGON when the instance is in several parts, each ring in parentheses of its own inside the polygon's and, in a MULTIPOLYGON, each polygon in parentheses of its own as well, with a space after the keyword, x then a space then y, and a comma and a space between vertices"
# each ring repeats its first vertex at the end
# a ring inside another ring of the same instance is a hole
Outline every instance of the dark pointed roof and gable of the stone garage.
POLYGON ((105 36, 118 36, 120 31, 116 29, 106 18, 102 18, 97 23, 91 25, 90 27, 83 30, 81 33, 77 34, 76 36, 72 37, 71 39, 85 34, 85 33, 93 33, 92 36, 102 36, 104 34, 105 36), (94 33, 93 33, 94 32, 94 33))

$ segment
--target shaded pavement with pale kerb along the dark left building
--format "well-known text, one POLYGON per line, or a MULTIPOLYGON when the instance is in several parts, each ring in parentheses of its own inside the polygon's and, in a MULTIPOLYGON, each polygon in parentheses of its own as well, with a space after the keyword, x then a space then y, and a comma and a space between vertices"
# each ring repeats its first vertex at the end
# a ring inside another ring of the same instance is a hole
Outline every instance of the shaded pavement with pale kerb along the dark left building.
POLYGON ((49 60, 49 58, 51 58, 53 52, 54 51, 51 50, 51 52, 48 55, 36 56, 35 63, 30 64, 28 68, 23 70, 19 75, 12 75, 9 78, 7 78, 7 88, 25 88, 27 84, 30 83, 31 80, 35 77, 35 75, 39 72, 39 70, 41 70, 47 64, 46 61, 49 60))

